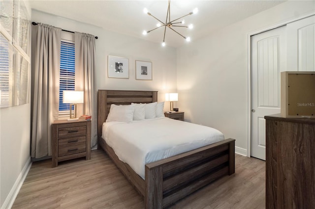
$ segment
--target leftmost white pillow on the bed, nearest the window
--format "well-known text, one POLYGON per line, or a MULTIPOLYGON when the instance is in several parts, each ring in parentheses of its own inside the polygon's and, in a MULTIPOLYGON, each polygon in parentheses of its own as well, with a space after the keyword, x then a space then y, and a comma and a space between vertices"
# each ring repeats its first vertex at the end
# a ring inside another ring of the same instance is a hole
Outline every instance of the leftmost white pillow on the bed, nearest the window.
POLYGON ((132 105, 110 105, 106 122, 119 121, 129 123, 133 119, 134 106, 132 105))

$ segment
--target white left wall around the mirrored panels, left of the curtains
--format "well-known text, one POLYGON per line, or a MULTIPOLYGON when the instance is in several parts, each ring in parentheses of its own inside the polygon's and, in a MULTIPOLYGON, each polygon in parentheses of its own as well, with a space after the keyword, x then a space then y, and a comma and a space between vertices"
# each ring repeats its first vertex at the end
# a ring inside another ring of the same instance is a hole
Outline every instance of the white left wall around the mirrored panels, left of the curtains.
MULTIPOLYGON (((31 16, 31 7, 25 1, 31 16)), ((0 208, 8 207, 30 166, 31 104, 0 109, 0 208), (5 203, 5 205, 3 205, 5 203)))

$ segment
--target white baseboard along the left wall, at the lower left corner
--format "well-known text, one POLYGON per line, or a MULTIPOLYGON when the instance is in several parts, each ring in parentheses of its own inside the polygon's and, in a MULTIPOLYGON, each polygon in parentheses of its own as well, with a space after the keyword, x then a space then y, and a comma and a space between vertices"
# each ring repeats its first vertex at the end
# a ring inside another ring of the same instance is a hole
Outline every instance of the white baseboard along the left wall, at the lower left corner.
POLYGON ((25 163, 20 175, 18 176, 18 178, 16 179, 10 193, 8 194, 8 196, 6 197, 3 205, 1 206, 1 209, 10 209, 13 206, 13 203, 15 201, 15 198, 18 196, 19 191, 24 183, 24 180, 26 178, 26 176, 28 175, 30 169, 32 166, 32 160, 31 157, 27 160, 27 162, 25 163))

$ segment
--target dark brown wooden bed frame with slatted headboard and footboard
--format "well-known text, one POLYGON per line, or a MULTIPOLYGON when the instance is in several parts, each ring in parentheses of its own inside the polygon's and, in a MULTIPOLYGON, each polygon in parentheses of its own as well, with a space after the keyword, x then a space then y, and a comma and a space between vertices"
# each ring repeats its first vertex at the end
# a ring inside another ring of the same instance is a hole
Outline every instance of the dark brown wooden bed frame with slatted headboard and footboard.
POLYGON ((147 209, 169 207, 197 189, 235 172, 235 139, 201 147, 145 165, 145 180, 121 161, 101 138, 102 125, 111 104, 152 103, 157 91, 98 90, 97 135, 102 148, 135 189, 143 195, 147 209))

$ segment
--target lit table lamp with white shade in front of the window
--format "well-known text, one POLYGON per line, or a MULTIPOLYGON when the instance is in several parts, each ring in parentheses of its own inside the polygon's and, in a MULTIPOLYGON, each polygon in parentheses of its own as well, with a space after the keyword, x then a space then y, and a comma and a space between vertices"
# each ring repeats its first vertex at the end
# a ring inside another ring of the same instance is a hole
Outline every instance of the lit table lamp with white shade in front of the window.
POLYGON ((77 103, 83 103, 83 91, 63 91, 63 103, 70 103, 70 118, 68 121, 77 121, 77 103), (72 117, 72 106, 74 106, 74 117, 72 117))

